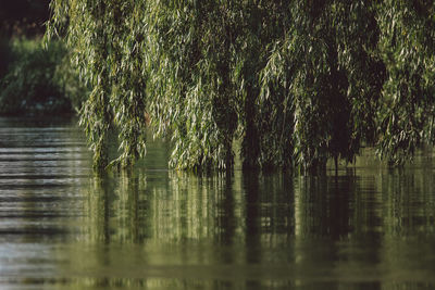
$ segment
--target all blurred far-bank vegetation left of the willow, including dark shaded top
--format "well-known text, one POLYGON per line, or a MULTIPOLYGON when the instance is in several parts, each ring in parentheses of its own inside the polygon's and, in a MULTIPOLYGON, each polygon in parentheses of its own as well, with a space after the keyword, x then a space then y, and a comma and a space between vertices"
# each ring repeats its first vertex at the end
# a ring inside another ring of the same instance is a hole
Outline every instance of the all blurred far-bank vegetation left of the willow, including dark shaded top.
POLYGON ((44 47, 49 0, 16 0, 0 10, 0 114, 71 114, 87 89, 61 41, 44 47))

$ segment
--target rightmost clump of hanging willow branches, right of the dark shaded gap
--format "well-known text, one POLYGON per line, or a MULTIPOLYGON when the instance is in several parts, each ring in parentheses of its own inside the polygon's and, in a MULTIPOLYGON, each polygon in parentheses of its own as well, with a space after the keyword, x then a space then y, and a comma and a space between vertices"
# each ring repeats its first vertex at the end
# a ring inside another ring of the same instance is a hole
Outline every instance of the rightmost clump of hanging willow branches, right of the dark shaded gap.
POLYGON ((378 151, 391 164, 401 164, 420 146, 435 141, 435 4, 385 0, 376 12, 388 73, 378 151))

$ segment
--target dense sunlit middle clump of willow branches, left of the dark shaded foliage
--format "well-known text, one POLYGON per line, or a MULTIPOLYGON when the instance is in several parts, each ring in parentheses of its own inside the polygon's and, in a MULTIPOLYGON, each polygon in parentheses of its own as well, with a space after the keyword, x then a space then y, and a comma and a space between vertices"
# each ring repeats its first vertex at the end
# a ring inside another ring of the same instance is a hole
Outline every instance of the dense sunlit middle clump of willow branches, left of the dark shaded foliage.
POLYGON ((150 110, 174 167, 227 167, 237 128, 232 1, 149 1, 150 110))

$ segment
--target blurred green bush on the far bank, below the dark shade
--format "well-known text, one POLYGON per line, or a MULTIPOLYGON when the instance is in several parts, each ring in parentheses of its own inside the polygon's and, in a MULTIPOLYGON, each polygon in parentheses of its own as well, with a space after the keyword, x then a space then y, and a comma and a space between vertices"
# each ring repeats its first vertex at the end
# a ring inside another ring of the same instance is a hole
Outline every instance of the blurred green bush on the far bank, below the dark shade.
POLYGON ((44 49, 40 40, 12 39, 4 47, 5 74, 0 78, 1 114, 71 113, 80 106, 86 88, 65 63, 59 41, 44 49))

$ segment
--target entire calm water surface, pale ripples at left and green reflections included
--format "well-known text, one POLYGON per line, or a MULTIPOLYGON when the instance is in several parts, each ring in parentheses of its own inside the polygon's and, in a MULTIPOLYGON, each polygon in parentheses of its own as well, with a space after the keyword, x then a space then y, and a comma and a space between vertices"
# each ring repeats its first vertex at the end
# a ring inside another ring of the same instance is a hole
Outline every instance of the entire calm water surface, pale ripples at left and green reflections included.
POLYGON ((402 171, 97 177, 70 121, 0 118, 0 289, 433 289, 431 153, 402 171))

